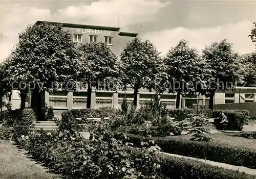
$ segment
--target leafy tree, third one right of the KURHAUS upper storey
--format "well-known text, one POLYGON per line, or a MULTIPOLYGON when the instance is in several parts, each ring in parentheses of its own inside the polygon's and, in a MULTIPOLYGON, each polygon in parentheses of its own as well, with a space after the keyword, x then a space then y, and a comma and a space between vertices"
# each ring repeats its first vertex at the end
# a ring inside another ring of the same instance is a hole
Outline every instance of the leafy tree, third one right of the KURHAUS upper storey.
POLYGON ((216 90, 233 89, 237 83, 243 82, 238 63, 239 55, 232 50, 232 44, 226 39, 214 42, 202 50, 203 70, 200 93, 209 99, 209 109, 213 109, 216 90))

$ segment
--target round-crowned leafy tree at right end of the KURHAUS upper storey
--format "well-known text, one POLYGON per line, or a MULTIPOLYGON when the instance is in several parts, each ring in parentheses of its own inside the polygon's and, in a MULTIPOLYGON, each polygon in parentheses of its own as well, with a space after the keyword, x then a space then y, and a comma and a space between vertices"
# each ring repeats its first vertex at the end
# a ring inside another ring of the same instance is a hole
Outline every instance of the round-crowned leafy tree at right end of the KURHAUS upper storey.
POLYGON ((162 62, 156 47, 148 40, 142 42, 135 38, 128 42, 121 53, 121 80, 123 88, 134 89, 133 105, 137 106, 138 91, 140 88, 152 90, 159 72, 162 71, 162 62))

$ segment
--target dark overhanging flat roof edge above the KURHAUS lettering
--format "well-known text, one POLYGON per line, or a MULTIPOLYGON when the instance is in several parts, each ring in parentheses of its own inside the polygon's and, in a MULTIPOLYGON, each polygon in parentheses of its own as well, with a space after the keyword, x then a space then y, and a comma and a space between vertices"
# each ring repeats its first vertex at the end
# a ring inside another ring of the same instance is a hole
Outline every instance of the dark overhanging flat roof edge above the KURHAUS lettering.
MULTIPOLYGON (((42 22, 47 21, 36 21, 35 24, 40 24, 42 22)), ((50 21, 48 21, 50 22, 50 21)), ((96 30, 110 30, 110 31, 120 31, 120 28, 115 27, 106 27, 106 26, 98 26, 98 25, 84 25, 84 24, 75 24, 75 23, 62 23, 62 22, 50 22, 52 24, 62 24, 63 27, 66 28, 83 28, 83 29, 96 29, 96 30)), ((130 37, 136 37, 138 33, 129 33, 129 32, 119 32, 120 36, 130 36, 130 37)))

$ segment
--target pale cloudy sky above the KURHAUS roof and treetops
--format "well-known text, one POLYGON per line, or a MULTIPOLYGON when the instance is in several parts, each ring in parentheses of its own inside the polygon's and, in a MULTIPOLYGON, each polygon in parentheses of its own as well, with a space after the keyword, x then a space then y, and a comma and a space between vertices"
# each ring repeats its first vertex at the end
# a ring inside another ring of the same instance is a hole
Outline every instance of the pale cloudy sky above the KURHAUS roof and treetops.
POLYGON ((255 1, 4 1, 1 0, 1 59, 18 43, 18 33, 37 20, 119 27, 139 33, 164 55, 180 40, 202 50, 227 39, 240 54, 251 53, 248 37, 256 21, 255 1))

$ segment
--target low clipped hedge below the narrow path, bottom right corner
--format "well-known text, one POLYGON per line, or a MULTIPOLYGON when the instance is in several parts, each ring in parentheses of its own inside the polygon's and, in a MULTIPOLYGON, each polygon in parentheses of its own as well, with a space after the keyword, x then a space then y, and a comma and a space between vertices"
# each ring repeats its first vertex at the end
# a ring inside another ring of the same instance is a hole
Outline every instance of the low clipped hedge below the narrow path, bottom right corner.
MULTIPOLYGON (((142 155, 137 149, 132 149, 132 154, 138 158, 142 155)), ((239 172, 223 167, 213 166, 191 159, 158 154, 156 161, 160 161, 161 174, 168 178, 255 178, 255 175, 239 172)))

